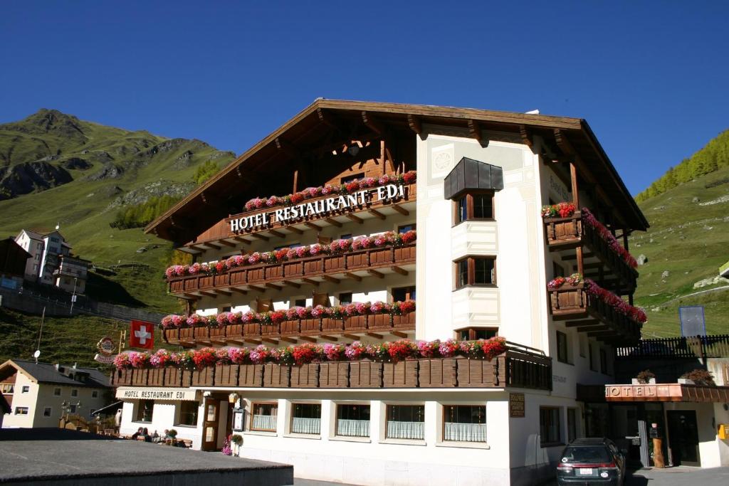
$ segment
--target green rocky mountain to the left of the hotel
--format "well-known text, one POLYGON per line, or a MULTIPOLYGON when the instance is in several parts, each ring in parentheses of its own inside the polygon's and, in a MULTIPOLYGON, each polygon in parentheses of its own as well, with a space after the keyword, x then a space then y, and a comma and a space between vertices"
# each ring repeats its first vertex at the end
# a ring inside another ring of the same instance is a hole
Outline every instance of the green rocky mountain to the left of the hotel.
POLYGON ((106 127, 42 109, 0 125, 0 235, 60 224, 74 254, 101 267, 90 275, 91 297, 179 310, 161 278, 171 244, 139 227, 110 224, 119 213, 126 215, 121 227, 129 227, 129 219, 149 219, 234 156, 199 140, 106 127))

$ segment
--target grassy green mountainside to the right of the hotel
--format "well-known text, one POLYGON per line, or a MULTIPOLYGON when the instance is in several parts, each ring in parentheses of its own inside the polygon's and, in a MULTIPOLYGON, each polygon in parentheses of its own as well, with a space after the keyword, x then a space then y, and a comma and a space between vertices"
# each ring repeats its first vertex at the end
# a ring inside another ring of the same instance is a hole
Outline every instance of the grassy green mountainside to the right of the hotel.
POLYGON ((636 200, 651 225, 630 240, 634 256, 647 256, 636 292, 644 337, 679 335, 678 308, 688 305, 704 306, 708 334, 729 334, 729 281, 718 278, 729 260, 729 131, 636 200))

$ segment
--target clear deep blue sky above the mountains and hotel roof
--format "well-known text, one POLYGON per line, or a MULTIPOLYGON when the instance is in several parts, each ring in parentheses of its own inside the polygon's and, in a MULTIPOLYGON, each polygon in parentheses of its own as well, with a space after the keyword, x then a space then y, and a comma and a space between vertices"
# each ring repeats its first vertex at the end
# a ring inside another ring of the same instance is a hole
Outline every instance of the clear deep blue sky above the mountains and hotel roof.
POLYGON ((588 119, 631 192, 729 128, 723 1, 4 1, 0 122, 241 153, 314 98, 588 119), (508 3, 508 4, 507 4, 508 3))

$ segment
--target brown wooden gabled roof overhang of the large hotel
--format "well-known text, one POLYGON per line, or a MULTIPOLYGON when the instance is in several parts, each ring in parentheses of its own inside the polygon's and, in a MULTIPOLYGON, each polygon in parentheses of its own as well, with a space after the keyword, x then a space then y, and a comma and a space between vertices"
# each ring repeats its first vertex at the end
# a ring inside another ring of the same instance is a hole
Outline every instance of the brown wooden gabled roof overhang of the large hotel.
MULTIPOLYGON (((145 232, 184 243, 242 208, 261 194, 262 184, 293 172, 301 155, 332 140, 382 138, 388 133, 417 133, 425 138, 438 127, 460 128, 482 144, 483 132, 512 133, 527 146, 539 136, 554 152, 569 146, 600 181, 604 193, 629 230, 646 230, 648 222, 625 188, 615 167, 584 119, 547 115, 319 98, 267 137, 243 152, 205 184, 147 225, 145 232), (426 131, 426 126, 427 130, 426 131), (559 140, 557 140, 559 138, 559 140), (276 176, 276 177, 274 177, 276 176)), ((434 131, 436 130, 436 131, 434 131)), ((488 140, 486 140, 488 143, 488 140)))

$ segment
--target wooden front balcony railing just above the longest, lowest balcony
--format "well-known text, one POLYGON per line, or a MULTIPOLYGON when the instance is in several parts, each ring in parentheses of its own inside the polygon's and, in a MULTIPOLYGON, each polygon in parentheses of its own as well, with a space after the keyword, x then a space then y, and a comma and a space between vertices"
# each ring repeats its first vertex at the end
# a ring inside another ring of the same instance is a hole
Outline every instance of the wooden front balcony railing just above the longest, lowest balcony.
MULTIPOLYGON (((297 337, 332 337, 336 334, 368 332, 400 333, 415 330, 415 313, 405 315, 355 315, 344 319, 311 318, 284 321, 278 324, 230 324, 223 327, 187 327, 163 329, 163 339, 172 345, 194 348, 197 345, 243 344, 295 340, 297 337)), ((397 335, 397 334, 396 334, 397 335)))

